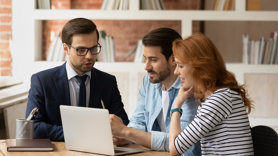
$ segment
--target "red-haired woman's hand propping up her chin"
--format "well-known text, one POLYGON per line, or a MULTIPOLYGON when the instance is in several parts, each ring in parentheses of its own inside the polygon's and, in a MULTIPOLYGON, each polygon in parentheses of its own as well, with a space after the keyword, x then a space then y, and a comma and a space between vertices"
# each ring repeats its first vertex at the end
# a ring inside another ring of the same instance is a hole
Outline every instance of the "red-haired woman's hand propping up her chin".
POLYGON ((183 86, 181 86, 179 88, 179 93, 178 93, 177 99, 175 101, 175 104, 173 106, 173 109, 181 108, 183 103, 188 99, 188 97, 190 97, 190 98, 194 97, 193 88, 194 88, 194 86, 192 86, 190 88, 183 88, 183 86))

